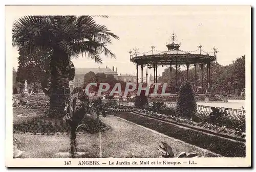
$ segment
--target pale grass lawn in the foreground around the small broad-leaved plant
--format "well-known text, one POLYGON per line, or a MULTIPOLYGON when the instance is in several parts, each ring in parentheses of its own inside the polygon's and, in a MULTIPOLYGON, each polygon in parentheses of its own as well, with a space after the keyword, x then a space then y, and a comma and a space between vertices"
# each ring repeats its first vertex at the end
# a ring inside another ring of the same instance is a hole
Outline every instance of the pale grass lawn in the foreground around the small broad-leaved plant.
MULTIPOLYGON (((208 150, 167 137, 112 115, 101 118, 101 120, 112 128, 101 133, 103 157, 125 158, 134 154, 138 158, 157 158, 162 155, 157 150, 161 141, 172 146, 175 156, 181 152, 196 152, 205 157, 218 156, 208 150)), ((59 158, 55 155, 56 153, 69 151, 70 136, 67 134, 14 135, 23 144, 20 150, 25 151, 25 158, 59 158)), ((77 143, 79 152, 87 152, 87 155, 80 158, 99 157, 98 134, 78 134, 77 143)))

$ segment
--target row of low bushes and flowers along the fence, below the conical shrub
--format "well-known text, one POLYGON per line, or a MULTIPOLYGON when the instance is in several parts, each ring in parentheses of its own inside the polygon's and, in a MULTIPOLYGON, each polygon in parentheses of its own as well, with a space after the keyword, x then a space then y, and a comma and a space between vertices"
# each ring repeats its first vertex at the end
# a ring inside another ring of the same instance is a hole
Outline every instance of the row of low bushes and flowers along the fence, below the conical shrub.
POLYGON ((197 112, 192 118, 187 118, 186 116, 180 115, 173 108, 167 108, 166 106, 162 106, 163 103, 157 102, 154 103, 153 106, 145 107, 145 108, 134 108, 129 106, 113 106, 112 110, 115 109, 123 109, 127 112, 131 111, 141 111, 147 115, 160 115, 165 119, 182 119, 182 122, 186 122, 189 124, 193 122, 193 124, 207 128, 212 130, 217 130, 218 132, 229 132, 229 129, 232 129, 232 133, 239 137, 245 137, 245 115, 241 116, 240 119, 230 118, 225 115, 221 115, 215 120, 209 120, 209 116, 197 112))

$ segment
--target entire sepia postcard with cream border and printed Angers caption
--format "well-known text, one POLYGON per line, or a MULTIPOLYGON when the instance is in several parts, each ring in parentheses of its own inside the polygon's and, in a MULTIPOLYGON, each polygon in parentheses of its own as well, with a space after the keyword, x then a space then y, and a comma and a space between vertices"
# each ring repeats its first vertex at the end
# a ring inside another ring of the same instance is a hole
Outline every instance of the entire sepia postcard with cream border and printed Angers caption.
POLYGON ((250 167, 250 6, 6 6, 7 167, 250 167))

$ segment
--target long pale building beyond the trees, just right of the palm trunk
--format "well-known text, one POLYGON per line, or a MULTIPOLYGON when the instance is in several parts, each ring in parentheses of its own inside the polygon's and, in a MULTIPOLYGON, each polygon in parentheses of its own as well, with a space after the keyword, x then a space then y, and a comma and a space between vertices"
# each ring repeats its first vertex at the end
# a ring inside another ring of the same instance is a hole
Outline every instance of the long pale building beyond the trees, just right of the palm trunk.
POLYGON ((114 66, 112 70, 108 66, 106 66, 105 68, 75 68, 74 80, 69 82, 69 88, 71 92, 75 87, 83 87, 84 75, 86 75, 86 73, 89 73, 90 71, 94 72, 95 74, 104 73, 105 75, 113 75, 116 79, 118 79, 117 68, 116 71, 114 71, 114 66))

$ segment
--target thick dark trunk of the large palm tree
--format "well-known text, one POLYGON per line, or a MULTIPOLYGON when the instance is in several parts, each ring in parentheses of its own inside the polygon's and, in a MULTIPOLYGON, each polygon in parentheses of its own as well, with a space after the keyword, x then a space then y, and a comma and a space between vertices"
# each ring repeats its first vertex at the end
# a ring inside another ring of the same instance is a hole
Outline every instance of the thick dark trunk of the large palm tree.
POLYGON ((65 108, 65 94, 69 91, 69 56, 60 49, 55 49, 50 62, 51 89, 50 89, 50 114, 52 117, 63 117, 65 108))

